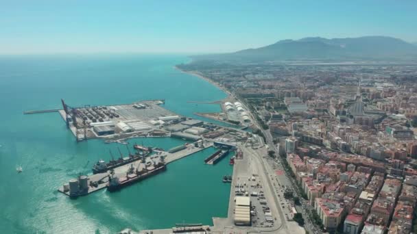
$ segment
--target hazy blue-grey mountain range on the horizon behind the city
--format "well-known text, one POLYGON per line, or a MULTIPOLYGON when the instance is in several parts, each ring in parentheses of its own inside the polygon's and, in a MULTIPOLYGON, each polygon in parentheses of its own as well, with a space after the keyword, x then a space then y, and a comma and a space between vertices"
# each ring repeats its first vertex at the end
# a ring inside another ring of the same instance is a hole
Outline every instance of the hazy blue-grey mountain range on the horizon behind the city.
POLYGON ((235 53, 194 55, 194 60, 417 60, 417 45, 387 36, 280 40, 235 53))

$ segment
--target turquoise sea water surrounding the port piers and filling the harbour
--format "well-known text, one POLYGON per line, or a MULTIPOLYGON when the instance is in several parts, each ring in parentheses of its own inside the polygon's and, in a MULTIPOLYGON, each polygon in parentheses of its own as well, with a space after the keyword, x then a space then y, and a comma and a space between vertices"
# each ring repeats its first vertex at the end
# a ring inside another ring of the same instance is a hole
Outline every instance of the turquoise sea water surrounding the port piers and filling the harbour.
MULTIPOLYGON (((106 190, 71 200, 56 189, 79 173, 91 172, 109 149, 128 150, 100 140, 75 143, 57 113, 23 115, 30 109, 132 103, 166 99, 184 116, 217 112, 226 95, 210 83, 175 70, 187 62, 176 55, 51 55, 0 57, 0 233, 116 233, 123 228, 169 228, 178 222, 211 224, 227 213, 232 168, 224 159, 203 164, 214 149, 169 164, 167 171, 110 194, 106 190), (16 165, 23 173, 16 173, 16 165)), ((171 138, 130 140, 171 148, 171 138)))

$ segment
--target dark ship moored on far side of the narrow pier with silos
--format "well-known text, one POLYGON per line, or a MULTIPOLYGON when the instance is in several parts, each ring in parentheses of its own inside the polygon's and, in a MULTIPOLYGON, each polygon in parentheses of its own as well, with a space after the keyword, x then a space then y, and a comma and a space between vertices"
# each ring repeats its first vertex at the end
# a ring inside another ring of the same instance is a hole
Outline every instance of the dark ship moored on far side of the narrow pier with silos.
MULTIPOLYGON (((118 159, 113 159, 113 156, 112 156, 112 159, 108 162, 104 161, 103 159, 99 159, 99 161, 97 161, 97 163, 94 164, 93 166, 93 174, 107 172, 108 170, 112 170, 119 166, 129 164, 133 161, 138 161, 139 159, 142 159, 148 154, 149 154, 149 151, 146 151, 143 153, 136 153, 134 155, 129 153, 129 157, 123 157, 123 155, 121 155, 120 153, 120 157, 118 159)), ((111 152, 110 152, 110 155, 111 155, 111 152)))

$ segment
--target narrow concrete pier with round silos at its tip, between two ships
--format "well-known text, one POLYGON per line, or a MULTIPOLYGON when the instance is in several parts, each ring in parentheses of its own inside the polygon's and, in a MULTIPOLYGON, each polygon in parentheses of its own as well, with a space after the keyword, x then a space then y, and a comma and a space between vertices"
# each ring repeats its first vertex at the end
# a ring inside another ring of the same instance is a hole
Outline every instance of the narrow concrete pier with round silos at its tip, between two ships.
MULTIPOLYGON (((129 164, 119 166, 113 169, 113 176, 116 177, 126 177, 126 172, 130 168, 139 168, 143 170, 146 166, 158 164, 160 161, 163 161, 165 164, 169 164, 183 157, 193 155, 199 151, 203 151, 206 148, 213 146, 212 142, 201 142, 198 146, 195 144, 186 144, 185 148, 181 151, 176 151, 175 153, 169 153, 166 151, 155 150, 155 155, 150 157, 145 157, 145 161, 133 161, 129 164)), ((66 183, 58 188, 58 192, 70 196, 71 198, 77 198, 78 196, 86 196, 98 190, 102 190, 108 187, 110 178, 110 173, 103 172, 92 175, 81 175, 78 179, 71 179, 69 183, 66 183)))

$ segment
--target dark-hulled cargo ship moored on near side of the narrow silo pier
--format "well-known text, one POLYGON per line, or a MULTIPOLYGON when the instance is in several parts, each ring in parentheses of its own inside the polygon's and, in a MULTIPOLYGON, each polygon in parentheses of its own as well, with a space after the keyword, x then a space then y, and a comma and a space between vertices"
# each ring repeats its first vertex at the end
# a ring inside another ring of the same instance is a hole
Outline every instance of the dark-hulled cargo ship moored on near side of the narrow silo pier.
POLYGON ((154 166, 150 166, 147 169, 138 171, 137 169, 133 172, 133 168, 130 171, 131 173, 127 173, 126 177, 110 177, 109 182, 107 185, 107 190, 110 192, 115 192, 117 190, 121 190, 121 188, 126 187, 128 185, 132 185, 133 183, 142 181, 154 174, 158 174, 167 170, 167 166, 163 163, 155 164, 154 166))

